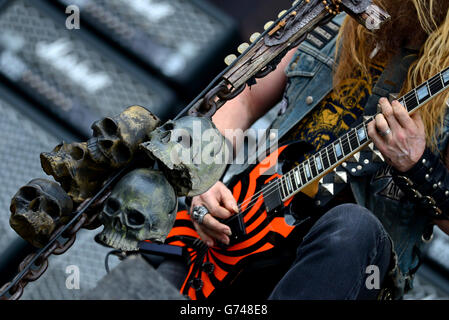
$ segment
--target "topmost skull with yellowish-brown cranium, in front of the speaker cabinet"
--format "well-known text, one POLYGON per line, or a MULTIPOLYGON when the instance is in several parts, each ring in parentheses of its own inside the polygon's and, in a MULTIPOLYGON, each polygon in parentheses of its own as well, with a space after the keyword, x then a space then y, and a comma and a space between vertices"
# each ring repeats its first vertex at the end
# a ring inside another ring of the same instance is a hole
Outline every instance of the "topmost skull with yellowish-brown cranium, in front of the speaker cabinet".
POLYGON ((127 164, 139 144, 159 125, 159 118, 140 106, 131 106, 119 115, 104 118, 92 125, 88 141, 92 159, 99 164, 119 168, 127 164))

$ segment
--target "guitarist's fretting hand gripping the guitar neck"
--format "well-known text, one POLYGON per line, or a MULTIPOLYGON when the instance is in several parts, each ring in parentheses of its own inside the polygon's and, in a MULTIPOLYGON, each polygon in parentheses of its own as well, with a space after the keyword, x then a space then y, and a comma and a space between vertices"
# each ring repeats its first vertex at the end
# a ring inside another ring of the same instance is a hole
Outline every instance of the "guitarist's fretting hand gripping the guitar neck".
POLYGON ((418 112, 410 116, 397 101, 379 100, 382 113, 368 124, 368 135, 386 162, 401 172, 411 169, 426 148, 424 123, 418 112))

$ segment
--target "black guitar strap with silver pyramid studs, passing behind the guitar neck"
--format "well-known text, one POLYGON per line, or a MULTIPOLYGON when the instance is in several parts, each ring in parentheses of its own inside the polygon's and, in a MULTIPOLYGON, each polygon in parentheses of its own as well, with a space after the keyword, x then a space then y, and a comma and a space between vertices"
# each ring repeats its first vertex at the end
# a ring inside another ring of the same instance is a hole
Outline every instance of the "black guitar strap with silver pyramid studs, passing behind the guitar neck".
MULTIPOLYGON (((372 90, 372 94, 364 108, 363 119, 358 119, 353 126, 359 125, 363 120, 378 112, 377 106, 380 98, 388 97, 390 101, 398 98, 397 95, 406 80, 408 69, 416 58, 416 51, 403 48, 391 60, 372 90)), ((334 171, 323 177, 320 181, 318 194, 315 197, 316 205, 326 205, 351 182, 351 179, 373 174, 384 163, 380 151, 373 144, 370 144, 368 148, 355 154, 334 171)))

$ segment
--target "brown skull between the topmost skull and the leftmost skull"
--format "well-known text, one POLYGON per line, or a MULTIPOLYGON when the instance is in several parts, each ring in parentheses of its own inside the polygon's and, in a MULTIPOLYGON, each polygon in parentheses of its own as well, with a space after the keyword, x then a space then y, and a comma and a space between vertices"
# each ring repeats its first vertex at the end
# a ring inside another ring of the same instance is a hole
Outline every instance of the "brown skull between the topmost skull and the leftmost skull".
POLYGON ((86 142, 61 143, 52 152, 41 153, 41 166, 76 203, 91 197, 108 173, 108 168, 92 161, 86 142))

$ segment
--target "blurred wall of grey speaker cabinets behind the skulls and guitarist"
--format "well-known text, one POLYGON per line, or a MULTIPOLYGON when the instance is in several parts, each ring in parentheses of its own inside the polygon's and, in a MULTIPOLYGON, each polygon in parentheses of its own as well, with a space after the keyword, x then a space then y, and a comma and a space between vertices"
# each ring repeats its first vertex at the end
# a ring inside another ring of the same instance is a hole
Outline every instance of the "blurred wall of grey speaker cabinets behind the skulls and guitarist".
MULTIPOLYGON (((0 286, 32 250, 10 228, 19 187, 48 178, 39 154, 60 141, 85 141, 104 116, 142 105, 176 115, 224 67, 239 43, 290 7, 291 0, 0 0, 0 286), (68 30, 68 5, 81 10, 68 30)), ((22 299, 77 299, 106 274, 99 230, 82 231, 22 299), (77 265, 80 290, 65 286, 77 265)), ((449 240, 428 245, 410 299, 449 297, 449 240)), ((112 262, 112 265, 117 261, 112 262)))

